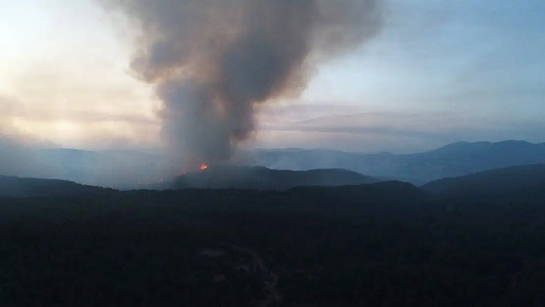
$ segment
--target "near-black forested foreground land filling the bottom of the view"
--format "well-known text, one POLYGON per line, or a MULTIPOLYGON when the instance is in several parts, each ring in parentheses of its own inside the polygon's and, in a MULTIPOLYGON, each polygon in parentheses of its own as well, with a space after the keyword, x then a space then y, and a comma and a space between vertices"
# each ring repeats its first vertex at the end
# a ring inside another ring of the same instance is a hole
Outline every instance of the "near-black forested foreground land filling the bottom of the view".
POLYGON ((545 197, 521 191, 0 198, 0 305, 543 306, 545 197))

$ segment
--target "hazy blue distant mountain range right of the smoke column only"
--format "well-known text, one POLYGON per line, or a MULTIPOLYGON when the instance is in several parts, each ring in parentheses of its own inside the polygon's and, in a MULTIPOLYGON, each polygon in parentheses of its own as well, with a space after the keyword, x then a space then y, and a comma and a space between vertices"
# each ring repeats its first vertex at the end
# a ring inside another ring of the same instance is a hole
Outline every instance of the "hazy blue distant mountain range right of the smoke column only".
POLYGON ((457 142, 415 154, 361 154, 328 150, 277 149, 253 154, 256 165, 277 169, 346 168, 368 176, 414 184, 516 165, 545 163, 545 143, 457 142))

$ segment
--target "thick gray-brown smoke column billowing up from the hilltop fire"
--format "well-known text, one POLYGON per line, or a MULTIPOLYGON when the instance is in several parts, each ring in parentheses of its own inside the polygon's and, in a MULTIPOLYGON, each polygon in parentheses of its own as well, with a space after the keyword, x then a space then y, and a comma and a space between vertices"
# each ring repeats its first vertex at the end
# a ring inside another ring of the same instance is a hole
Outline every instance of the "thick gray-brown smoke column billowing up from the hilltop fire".
POLYGON ((259 104, 297 97, 316 64, 380 28, 380 0, 99 0, 142 27, 132 68, 164 103, 181 166, 228 160, 259 104))

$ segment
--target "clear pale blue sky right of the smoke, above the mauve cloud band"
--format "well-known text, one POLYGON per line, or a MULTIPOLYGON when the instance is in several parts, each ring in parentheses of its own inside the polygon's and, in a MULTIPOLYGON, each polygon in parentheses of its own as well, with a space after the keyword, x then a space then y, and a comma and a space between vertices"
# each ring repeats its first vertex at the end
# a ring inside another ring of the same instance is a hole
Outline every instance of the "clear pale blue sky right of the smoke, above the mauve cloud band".
POLYGON ((348 94, 346 100, 354 103, 370 97, 389 100, 377 103, 395 109, 492 113, 498 105, 517 113, 532 101, 541 105, 545 2, 391 3, 396 5, 386 13, 381 35, 342 65, 324 69, 309 89, 309 99, 348 94), (513 95, 529 101, 513 104, 506 99, 513 95))

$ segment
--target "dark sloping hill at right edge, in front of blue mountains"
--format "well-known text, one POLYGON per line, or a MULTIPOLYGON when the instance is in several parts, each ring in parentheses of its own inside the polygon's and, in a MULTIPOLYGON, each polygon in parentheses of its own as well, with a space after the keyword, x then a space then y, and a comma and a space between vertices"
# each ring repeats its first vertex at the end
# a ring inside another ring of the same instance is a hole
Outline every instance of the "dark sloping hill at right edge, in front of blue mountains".
POLYGON ((445 197, 513 193, 521 197, 545 196, 545 164, 510 166, 439 179, 423 185, 422 189, 445 197))

